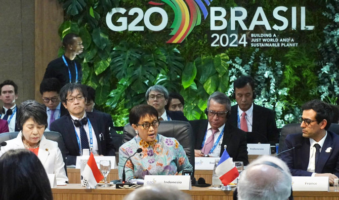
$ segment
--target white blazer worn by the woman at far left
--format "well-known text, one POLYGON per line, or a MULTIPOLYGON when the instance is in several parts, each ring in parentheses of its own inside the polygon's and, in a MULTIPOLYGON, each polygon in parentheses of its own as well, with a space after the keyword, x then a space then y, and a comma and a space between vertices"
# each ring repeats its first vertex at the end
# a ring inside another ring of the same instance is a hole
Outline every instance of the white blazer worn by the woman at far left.
MULTIPOLYGON (((7 145, 1 147, 0 156, 10 149, 24 149, 25 146, 22 142, 22 132, 20 131, 18 136, 12 140, 6 141, 7 145)), ((61 155, 61 151, 58 147, 58 143, 52 140, 41 138, 37 157, 43 164, 47 174, 55 174, 58 185, 64 185, 68 182, 64 168, 64 160, 61 155)))

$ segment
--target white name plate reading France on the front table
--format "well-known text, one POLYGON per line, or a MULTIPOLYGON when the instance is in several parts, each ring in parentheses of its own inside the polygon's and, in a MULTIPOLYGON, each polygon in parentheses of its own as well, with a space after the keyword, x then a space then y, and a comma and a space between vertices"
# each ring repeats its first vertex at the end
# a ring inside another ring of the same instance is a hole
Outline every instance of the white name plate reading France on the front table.
POLYGON ((329 191, 328 177, 292 176, 293 191, 329 191))

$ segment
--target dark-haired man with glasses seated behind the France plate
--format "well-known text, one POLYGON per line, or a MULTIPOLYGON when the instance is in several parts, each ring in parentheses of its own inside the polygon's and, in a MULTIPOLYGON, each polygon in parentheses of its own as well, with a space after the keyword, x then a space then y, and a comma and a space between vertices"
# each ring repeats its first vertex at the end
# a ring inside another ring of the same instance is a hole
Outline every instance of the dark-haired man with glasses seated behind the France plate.
POLYGON ((339 177, 339 136, 327 131, 331 125, 332 109, 320 100, 302 106, 303 133, 287 135, 281 159, 292 176, 326 176, 332 185, 339 177))

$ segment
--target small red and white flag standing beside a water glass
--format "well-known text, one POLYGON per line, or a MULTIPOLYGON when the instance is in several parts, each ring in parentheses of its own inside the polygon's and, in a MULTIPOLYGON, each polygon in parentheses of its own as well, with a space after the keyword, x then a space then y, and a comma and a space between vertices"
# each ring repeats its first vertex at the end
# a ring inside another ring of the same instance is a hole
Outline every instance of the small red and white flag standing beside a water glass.
POLYGON ((95 188, 99 181, 101 181, 104 176, 101 174, 98 169, 97 163, 95 162, 94 155, 91 152, 90 158, 88 159, 87 165, 84 167, 81 174, 81 186, 88 188, 95 188))

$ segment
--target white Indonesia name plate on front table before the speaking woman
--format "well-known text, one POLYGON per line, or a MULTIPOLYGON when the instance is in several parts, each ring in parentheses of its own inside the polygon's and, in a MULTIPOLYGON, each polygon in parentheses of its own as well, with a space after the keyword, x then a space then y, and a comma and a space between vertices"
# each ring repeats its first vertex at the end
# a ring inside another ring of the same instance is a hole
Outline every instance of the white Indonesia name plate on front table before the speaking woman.
POLYGON ((155 184, 173 185, 180 190, 192 189, 190 176, 180 176, 180 175, 179 176, 154 176, 154 175, 145 176, 144 186, 155 185, 155 184))

